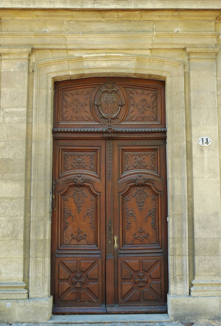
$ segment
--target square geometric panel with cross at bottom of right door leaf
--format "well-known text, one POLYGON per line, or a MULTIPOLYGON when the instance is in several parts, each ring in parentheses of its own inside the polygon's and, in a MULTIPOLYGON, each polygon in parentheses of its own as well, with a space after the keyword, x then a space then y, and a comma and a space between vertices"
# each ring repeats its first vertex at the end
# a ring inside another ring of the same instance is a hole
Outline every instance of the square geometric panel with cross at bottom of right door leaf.
POLYGON ((119 258, 119 303, 164 300, 163 257, 119 258))

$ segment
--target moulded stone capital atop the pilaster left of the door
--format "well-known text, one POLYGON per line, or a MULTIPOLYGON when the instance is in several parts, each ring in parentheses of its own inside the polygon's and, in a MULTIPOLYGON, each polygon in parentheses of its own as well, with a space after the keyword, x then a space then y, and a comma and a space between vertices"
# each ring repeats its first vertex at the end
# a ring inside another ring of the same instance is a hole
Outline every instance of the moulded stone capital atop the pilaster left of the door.
POLYGON ((1 60, 28 59, 32 52, 31 47, 0 47, 1 60))

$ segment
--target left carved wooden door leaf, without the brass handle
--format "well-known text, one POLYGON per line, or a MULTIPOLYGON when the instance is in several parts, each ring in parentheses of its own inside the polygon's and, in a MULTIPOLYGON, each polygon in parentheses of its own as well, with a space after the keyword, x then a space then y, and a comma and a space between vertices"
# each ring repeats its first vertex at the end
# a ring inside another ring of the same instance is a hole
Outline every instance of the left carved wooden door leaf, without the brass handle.
POLYGON ((54 157, 54 311, 106 313, 105 140, 56 139, 54 157))

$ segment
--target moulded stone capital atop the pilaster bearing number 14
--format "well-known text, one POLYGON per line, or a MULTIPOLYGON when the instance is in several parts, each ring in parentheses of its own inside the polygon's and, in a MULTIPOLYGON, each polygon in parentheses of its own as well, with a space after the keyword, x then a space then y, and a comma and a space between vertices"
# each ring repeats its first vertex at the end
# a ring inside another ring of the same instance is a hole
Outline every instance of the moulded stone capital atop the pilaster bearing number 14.
POLYGON ((219 46, 188 46, 186 53, 190 59, 215 59, 219 46))

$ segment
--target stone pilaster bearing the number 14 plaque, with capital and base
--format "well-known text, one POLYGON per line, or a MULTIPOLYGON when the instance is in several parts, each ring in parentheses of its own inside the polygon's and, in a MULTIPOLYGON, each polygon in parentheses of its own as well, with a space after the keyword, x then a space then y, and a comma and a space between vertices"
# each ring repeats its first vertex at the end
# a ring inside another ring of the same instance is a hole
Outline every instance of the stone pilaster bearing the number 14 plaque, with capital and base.
POLYGON ((219 47, 188 47, 195 279, 191 296, 221 295, 221 219, 215 56, 219 47), (198 144, 208 136, 208 147, 198 144))

